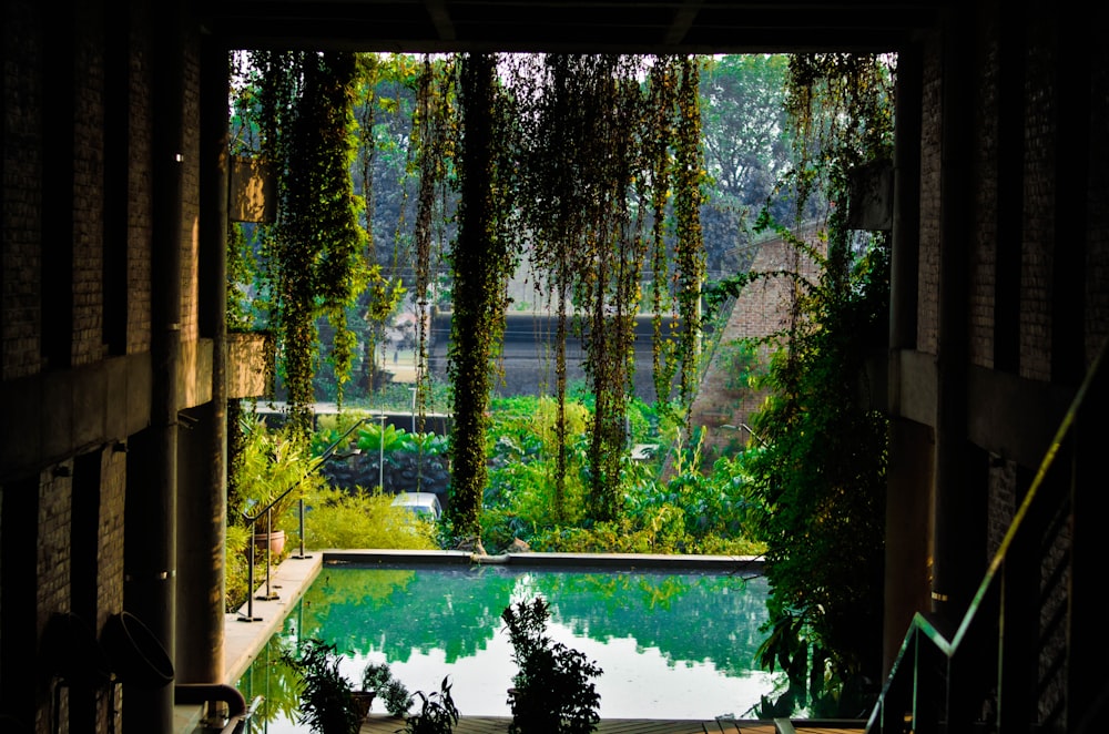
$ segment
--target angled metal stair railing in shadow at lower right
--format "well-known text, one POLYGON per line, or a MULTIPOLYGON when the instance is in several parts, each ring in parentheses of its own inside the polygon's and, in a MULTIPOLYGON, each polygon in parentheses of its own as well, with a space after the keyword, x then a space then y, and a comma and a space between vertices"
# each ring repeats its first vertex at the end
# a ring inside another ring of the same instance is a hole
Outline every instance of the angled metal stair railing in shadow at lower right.
POLYGON ((1106 507, 1107 488, 1093 473, 1103 451, 1093 435, 1105 418, 1105 360, 1102 348, 962 622, 943 629, 926 614, 913 619, 869 734, 1097 731, 1079 722, 1107 693, 1100 666, 1089 669, 1103 657, 1096 652, 1103 624, 1095 623, 1103 612, 1080 604, 1092 605, 1101 581, 1090 571, 1097 559, 1075 563, 1090 558, 1091 546, 1099 555, 1099 543, 1079 534, 1076 504, 1081 512, 1106 507))

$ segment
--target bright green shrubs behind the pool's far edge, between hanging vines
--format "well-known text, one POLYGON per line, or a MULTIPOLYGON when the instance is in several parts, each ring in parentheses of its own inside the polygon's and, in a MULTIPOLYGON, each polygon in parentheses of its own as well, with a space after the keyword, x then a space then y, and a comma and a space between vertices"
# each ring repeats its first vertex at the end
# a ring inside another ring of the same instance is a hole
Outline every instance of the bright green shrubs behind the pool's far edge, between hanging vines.
MULTIPOLYGON (((676 424, 668 417, 658 419, 663 435, 652 437, 657 416, 639 400, 630 402, 630 442, 674 444, 672 478, 658 478, 664 457, 640 462, 624 452, 619 517, 597 521, 587 499, 589 445, 574 432, 567 437, 570 471, 561 512, 556 513, 556 410, 551 398, 518 396, 494 404, 481 514, 488 548, 506 548, 519 538, 539 551, 759 554, 764 549, 750 536, 753 502, 742 459, 722 458, 703 470, 700 439, 682 444, 676 424)), ((570 426, 589 425, 584 402, 568 402, 566 415, 572 417, 570 426)))

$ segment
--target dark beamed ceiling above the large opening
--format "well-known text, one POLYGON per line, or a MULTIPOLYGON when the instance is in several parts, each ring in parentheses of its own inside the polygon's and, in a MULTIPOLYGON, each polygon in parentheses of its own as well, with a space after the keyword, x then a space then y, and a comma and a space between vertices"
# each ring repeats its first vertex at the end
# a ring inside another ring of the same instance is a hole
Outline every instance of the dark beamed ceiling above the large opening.
POLYGON ((230 48, 548 53, 894 51, 950 0, 196 0, 230 48))

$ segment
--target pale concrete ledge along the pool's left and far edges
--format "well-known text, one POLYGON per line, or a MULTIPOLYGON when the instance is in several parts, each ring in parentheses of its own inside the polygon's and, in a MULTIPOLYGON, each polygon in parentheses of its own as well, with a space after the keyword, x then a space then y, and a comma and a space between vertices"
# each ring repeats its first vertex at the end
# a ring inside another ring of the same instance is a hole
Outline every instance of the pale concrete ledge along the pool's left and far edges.
POLYGON ((670 555, 661 553, 503 553, 484 555, 458 550, 325 549, 291 555, 262 579, 255 597, 224 615, 224 682, 235 683, 266 642, 281 630, 292 606, 325 565, 510 565, 513 568, 627 569, 711 571, 761 575, 763 561, 753 555, 670 555))

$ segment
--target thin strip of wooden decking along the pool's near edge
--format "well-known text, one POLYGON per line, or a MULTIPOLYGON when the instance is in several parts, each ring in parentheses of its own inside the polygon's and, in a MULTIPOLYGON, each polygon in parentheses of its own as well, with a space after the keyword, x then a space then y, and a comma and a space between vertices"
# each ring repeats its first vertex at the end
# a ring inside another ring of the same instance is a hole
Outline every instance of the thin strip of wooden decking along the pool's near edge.
MULTIPOLYGON (((806 726, 802 720, 793 722, 796 734, 863 734, 862 723, 843 723, 806 726)), ((464 716, 455 726, 455 734, 505 734, 509 720, 496 716, 464 716)), ((362 726, 360 734, 396 734, 403 732, 405 722, 384 714, 372 714, 362 726)), ((663 721, 663 720, 602 720, 597 734, 779 734, 772 721, 663 721)))

